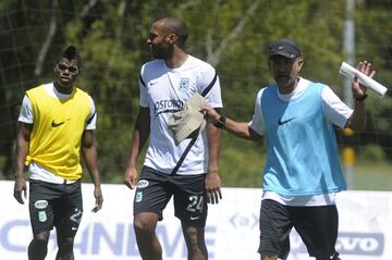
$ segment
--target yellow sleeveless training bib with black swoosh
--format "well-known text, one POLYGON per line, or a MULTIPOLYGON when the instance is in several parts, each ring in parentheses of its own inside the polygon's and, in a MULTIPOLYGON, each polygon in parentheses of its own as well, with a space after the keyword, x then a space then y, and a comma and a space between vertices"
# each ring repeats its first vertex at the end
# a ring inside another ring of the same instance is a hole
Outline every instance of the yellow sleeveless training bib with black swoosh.
POLYGON ((69 98, 51 97, 44 85, 26 91, 34 125, 26 164, 37 162, 65 179, 82 177, 79 149, 90 111, 89 96, 74 88, 69 98))

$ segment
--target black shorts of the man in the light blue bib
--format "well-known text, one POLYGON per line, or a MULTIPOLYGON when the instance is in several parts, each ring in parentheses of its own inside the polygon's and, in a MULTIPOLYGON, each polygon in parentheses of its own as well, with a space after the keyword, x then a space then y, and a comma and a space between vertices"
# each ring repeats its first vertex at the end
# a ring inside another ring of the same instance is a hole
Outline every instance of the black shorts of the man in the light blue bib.
POLYGON ((290 251, 290 232, 294 227, 309 256, 317 260, 336 259, 338 209, 335 205, 292 207, 266 199, 260 210, 259 253, 274 252, 286 259, 290 251))

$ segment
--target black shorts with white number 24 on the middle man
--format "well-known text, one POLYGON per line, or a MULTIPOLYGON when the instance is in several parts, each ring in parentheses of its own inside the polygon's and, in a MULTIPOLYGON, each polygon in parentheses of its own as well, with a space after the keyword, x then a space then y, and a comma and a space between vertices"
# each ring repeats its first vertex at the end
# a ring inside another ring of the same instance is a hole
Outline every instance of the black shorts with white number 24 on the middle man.
POLYGON ((205 226, 208 210, 205 178, 205 174, 171 175, 144 166, 136 186, 134 215, 155 212, 162 220, 163 209, 173 196, 176 218, 191 226, 205 226))

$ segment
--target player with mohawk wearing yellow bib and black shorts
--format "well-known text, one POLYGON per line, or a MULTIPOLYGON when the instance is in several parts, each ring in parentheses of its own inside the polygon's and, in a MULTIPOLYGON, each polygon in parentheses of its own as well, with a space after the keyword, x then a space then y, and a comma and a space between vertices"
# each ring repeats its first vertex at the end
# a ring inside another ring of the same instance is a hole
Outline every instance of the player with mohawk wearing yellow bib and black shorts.
POLYGON ((24 166, 29 172, 29 214, 33 240, 29 260, 44 260, 53 226, 57 230, 57 260, 73 260, 74 237, 82 214, 82 165, 79 148, 93 178, 96 205, 102 207, 94 140, 96 109, 91 97, 74 87, 81 72, 81 57, 68 47, 54 64, 54 83, 26 91, 19 116, 14 197, 26 199, 24 166), (23 194, 23 195, 22 195, 23 194))

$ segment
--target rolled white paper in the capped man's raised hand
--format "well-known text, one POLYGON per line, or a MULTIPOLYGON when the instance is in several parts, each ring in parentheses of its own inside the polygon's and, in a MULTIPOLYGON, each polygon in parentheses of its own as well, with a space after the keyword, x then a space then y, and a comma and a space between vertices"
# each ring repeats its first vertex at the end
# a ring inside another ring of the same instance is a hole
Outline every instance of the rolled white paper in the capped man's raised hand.
POLYGON ((372 79, 371 77, 365 75, 364 73, 359 72, 358 70, 352 67, 350 64, 342 62, 341 67, 339 69, 339 73, 353 79, 356 75, 358 77, 358 81, 362 85, 370 88, 373 92, 377 94, 379 98, 382 98, 388 88, 372 79))

